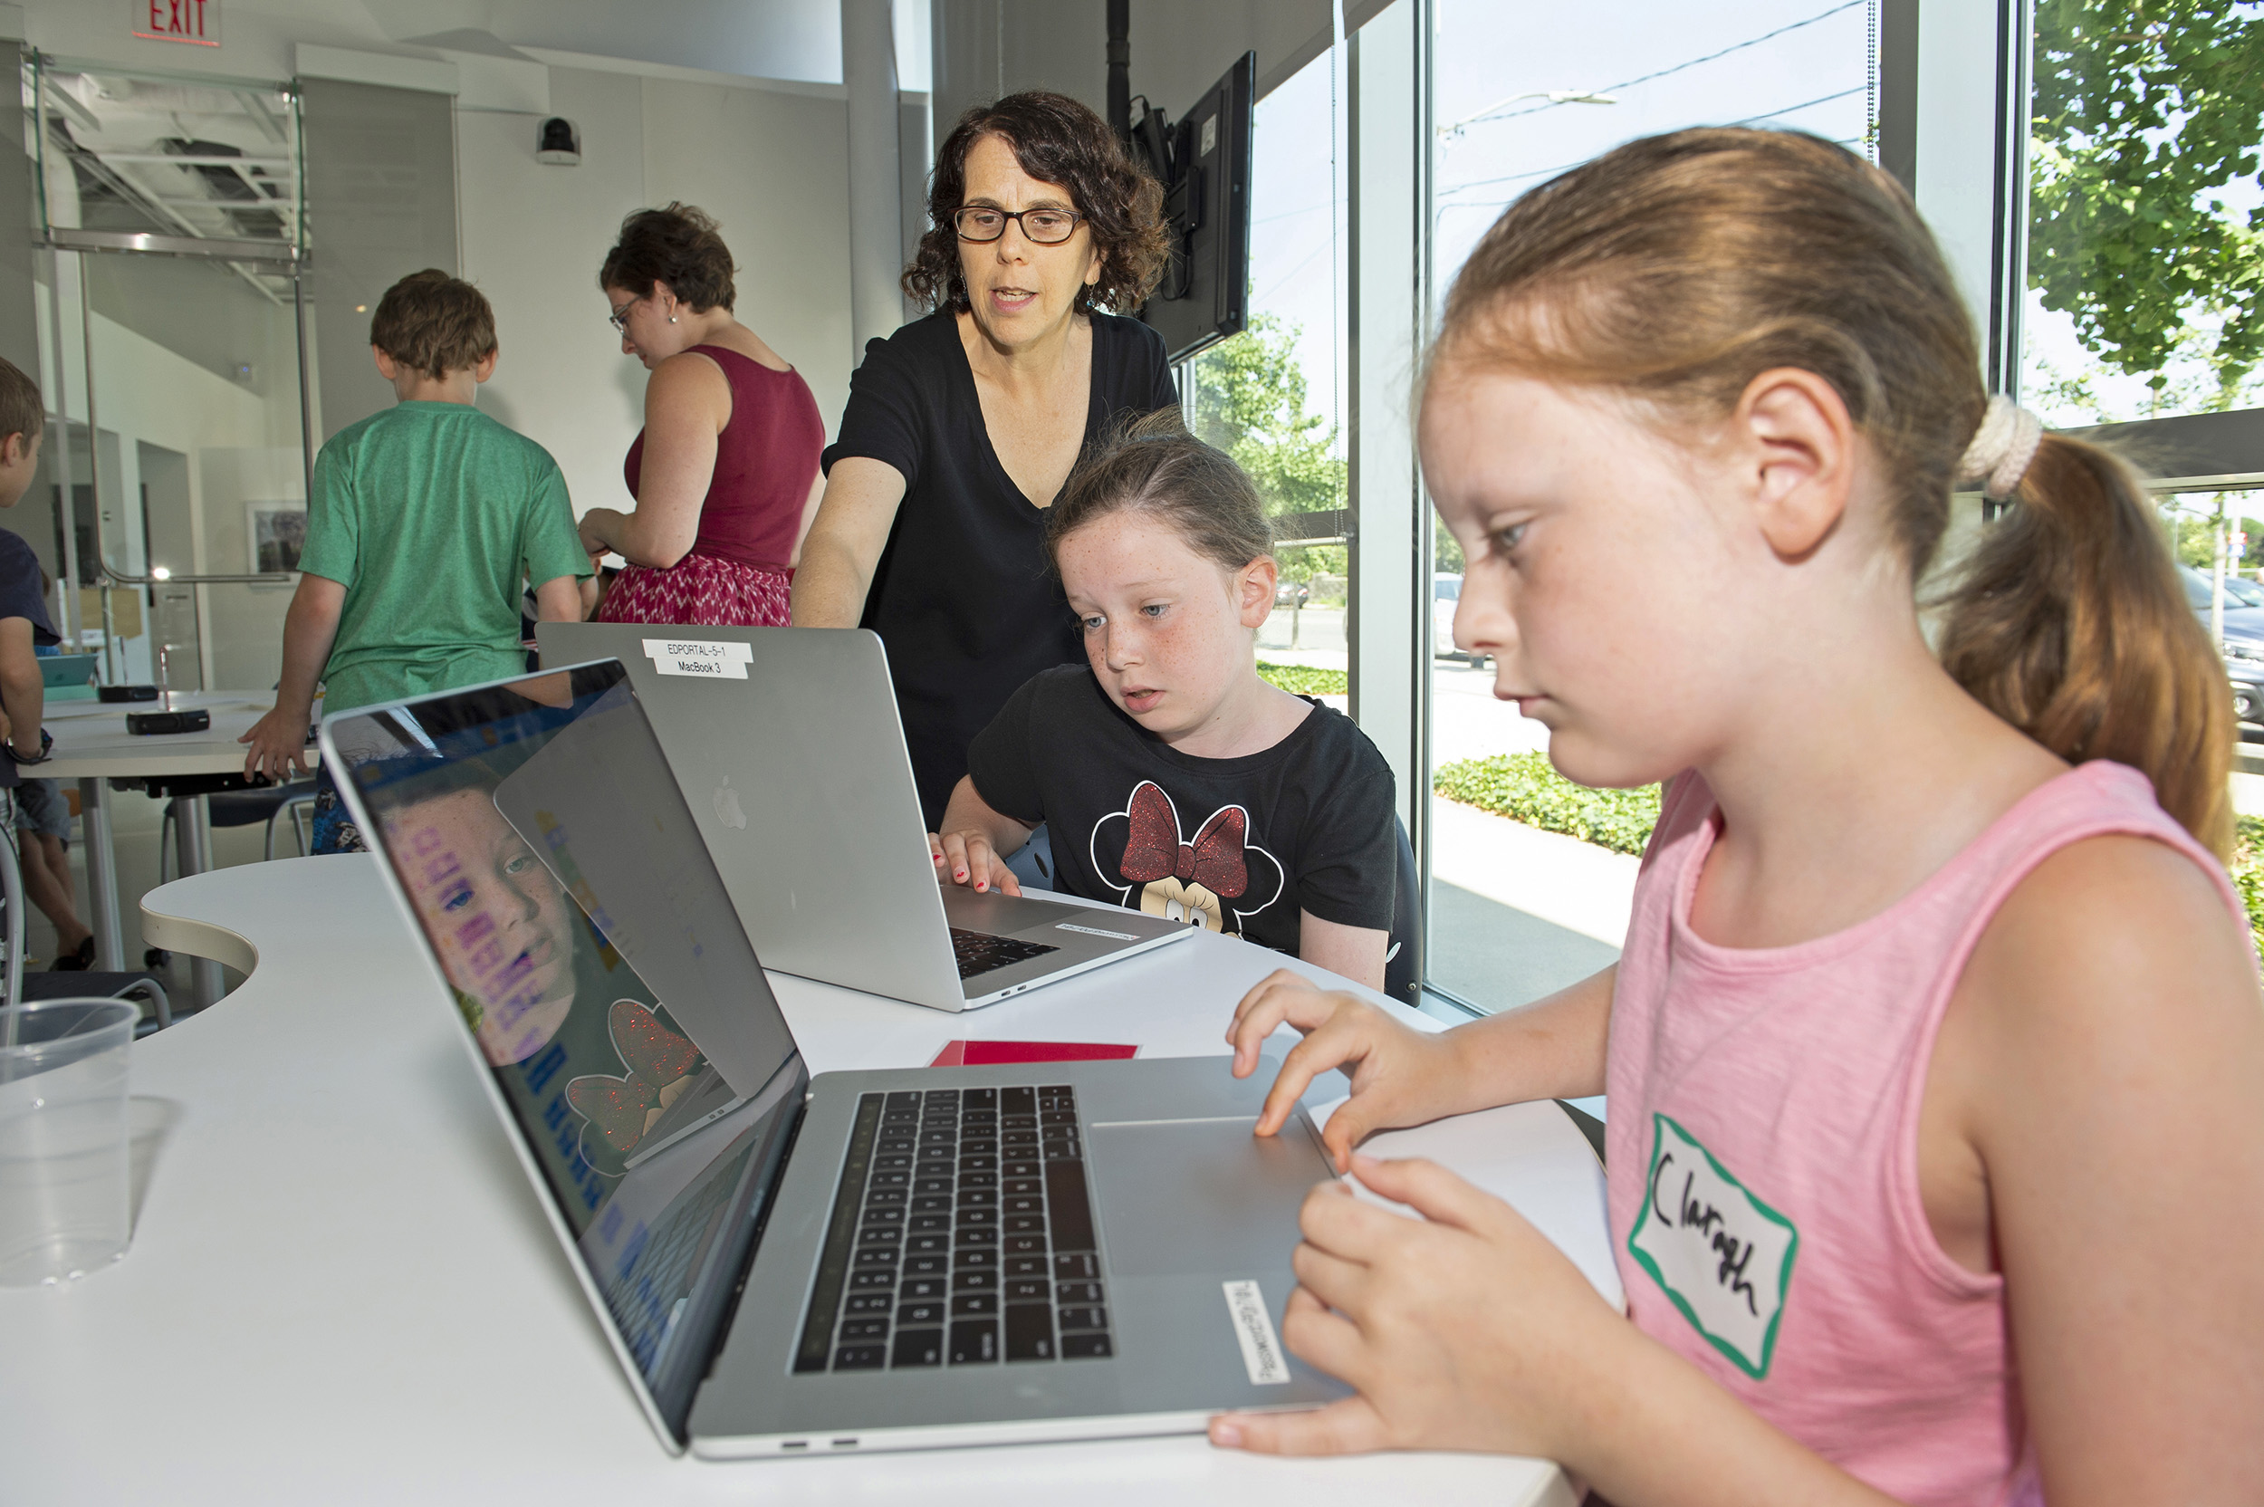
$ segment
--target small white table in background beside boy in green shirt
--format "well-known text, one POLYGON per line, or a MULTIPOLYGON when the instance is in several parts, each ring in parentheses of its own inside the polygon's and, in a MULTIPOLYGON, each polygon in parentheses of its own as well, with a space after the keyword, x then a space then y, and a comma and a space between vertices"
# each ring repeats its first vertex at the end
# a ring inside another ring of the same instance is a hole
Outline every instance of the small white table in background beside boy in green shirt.
MULTIPOLYGON (((245 747, 235 742, 274 706, 263 690, 183 690, 165 706, 211 713, 201 733, 127 733, 127 713, 158 711, 158 701, 52 701, 45 711, 54 754, 29 774, 45 781, 79 781, 79 817, 86 824, 88 925, 95 930, 95 966, 127 968, 125 925, 118 914, 118 855, 111 846, 109 787, 104 781, 181 774, 242 774, 245 747)), ((308 749, 312 763, 315 751, 308 749)), ((181 873, 211 867, 213 835, 204 796, 188 801, 181 821, 181 873)), ((140 966, 140 957, 131 962, 140 966)), ((220 993, 220 968, 197 971, 197 998, 220 993)))

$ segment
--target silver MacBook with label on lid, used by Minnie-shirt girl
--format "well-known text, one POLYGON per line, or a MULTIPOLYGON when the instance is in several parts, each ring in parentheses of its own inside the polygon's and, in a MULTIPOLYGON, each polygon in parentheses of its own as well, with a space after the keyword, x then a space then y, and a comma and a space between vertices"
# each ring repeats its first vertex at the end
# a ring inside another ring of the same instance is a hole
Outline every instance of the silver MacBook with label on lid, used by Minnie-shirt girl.
POLYGON ((874 634, 543 622, 534 640, 546 665, 629 668, 770 968, 971 1009, 1191 930, 1137 910, 937 885, 874 634))

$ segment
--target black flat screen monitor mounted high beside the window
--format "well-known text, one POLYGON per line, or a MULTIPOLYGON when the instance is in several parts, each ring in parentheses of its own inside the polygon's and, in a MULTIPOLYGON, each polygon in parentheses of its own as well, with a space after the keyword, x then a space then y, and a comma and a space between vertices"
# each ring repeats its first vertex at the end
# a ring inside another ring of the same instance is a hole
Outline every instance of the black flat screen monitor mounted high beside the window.
POLYGON ((1170 267, 1141 319, 1164 335, 1170 360, 1238 335, 1250 319, 1250 113, 1259 54, 1245 52, 1180 115, 1148 109, 1132 154, 1164 183, 1170 267))

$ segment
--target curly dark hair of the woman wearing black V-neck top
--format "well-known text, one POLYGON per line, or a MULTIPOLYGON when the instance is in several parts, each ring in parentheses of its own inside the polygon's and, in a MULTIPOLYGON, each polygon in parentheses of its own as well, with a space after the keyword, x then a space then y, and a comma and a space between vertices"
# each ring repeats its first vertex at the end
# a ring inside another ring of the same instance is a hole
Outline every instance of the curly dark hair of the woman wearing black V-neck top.
POLYGON ((1064 186, 1071 208, 1084 215, 1100 253, 1100 281, 1078 292, 1078 308, 1100 303, 1130 315, 1146 303, 1170 256, 1164 188, 1132 161, 1100 115, 1044 88, 978 104, 944 138, 928 179, 928 233, 903 269, 903 292, 928 308, 967 308, 951 210, 967 195, 967 154, 985 136, 1014 147, 1014 161, 1039 183, 1064 186))

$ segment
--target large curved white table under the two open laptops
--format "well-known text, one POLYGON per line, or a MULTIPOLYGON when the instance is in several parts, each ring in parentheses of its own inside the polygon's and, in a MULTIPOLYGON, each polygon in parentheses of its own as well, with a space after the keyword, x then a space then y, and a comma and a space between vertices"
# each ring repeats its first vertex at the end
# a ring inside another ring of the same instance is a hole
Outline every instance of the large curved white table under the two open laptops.
MULTIPOLYGON (((1200 1437, 702 1464, 638 1412, 374 858, 165 885, 147 937, 251 978, 134 1048, 134 1249, 0 1290, 0 1496, 165 1502, 1232 1502, 1571 1507, 1537 1459, 1290 1462, 1200 1437)), ((772 975, 813 1073, 953 1036, 1223 1052, 1275 957, 1195 937, 946 1016, 772 975)), ((1616 1299, 1603 1174, 1553 1104, 1406 1138, 1506 1192, 1616 1299)), ((1390 1152, 1392 1145, 1381 1149, 1390 1152)))

